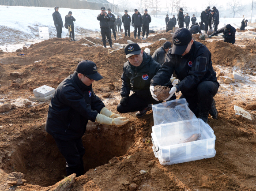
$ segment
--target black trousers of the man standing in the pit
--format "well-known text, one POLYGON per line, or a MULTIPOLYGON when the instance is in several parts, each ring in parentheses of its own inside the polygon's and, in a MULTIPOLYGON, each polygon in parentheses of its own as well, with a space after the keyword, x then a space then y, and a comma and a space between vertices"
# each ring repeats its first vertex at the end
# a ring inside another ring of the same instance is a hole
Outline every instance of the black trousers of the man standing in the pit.
POLYGON ((83 155, 85 149, 83 147, 82 139, 75 139, 71 141, 63 141, 61 139, 54 138, 60 153, 66 159, 66 171, 67 176, 75 173, 76 176, 83 175, 83 155))

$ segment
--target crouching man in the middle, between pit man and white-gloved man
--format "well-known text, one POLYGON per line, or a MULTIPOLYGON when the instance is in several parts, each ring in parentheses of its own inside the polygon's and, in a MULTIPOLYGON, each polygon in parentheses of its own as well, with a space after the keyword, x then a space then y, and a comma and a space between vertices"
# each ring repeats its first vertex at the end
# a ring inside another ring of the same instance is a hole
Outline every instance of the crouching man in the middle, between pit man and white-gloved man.
MULTIPOLYGON (((122 99, 117 105, 117 111, 120 113, 138 111, 136 117, 142 117, 152 109, 151 104, 159 103, 152 98, 149 87, 151 79, 161 65, 143 52, 137 43, 126 45, 124 52, 128 61, 124 63, 124 72, 121 77, 123 83, 120 92, 122 99), (129 96, 131 90, 134 94, 129 96)), ((170 78, 166 79, 166 83, 163 85, 169 86, 169 88, 173 87, 170 78)), ((173 99, 176 99, 175 95, 168 98, 168 100, 173 99)))

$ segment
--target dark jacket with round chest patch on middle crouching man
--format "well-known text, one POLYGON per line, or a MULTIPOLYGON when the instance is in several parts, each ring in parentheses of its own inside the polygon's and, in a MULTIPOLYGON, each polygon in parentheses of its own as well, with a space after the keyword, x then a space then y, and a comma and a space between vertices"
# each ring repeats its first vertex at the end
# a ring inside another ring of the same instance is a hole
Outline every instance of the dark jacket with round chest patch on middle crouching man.
POLYGON ((123 81, 120 92, 121 96, 128 96, 132 90, 139 97, 148 99, 151 96, 149 95, 150 81, 160 67, 161 65, 145 52, 143 52, 143 62, 140 66, 132 66, 129 61, 124 63, 124 72, 121 77, 123 81))

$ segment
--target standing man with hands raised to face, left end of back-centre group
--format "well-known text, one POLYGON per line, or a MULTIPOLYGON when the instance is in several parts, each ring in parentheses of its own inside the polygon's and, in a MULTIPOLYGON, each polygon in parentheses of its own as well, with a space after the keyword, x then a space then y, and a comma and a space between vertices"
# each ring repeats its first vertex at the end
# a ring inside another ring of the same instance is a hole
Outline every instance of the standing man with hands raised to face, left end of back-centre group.
POLYGON ((112 39, 111 39, 111 32, 110 32, 110 26, 109 21, 111 20, 111 17, 109 14, 106 13, 105 7, 101 7, 101 13, 97 16, 97 20, 100 21, 101 26, 101 34, 102 34, 102 43, 105 48, 106 46, 106 36, 109 40, 109 46, 112 48, 112 39))

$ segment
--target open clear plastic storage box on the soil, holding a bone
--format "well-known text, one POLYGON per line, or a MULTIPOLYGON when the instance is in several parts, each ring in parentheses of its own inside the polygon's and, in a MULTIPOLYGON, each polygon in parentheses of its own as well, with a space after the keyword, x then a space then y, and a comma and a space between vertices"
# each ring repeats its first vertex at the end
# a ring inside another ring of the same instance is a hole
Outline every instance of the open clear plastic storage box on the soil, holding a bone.
POLYGON ((153 126, 151 136, 154 155, 161 165, 196 161, 216 154, 214 131, 201 119, 153 126), (183 142, 199 133, 201 136, 196 141, 183 142))

